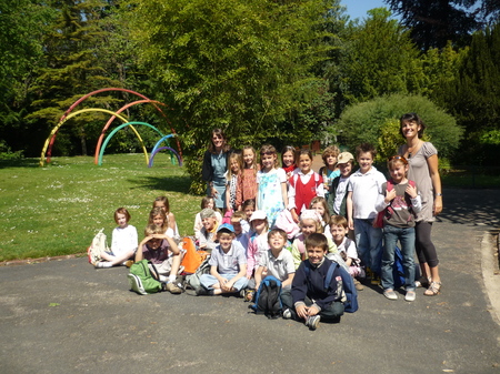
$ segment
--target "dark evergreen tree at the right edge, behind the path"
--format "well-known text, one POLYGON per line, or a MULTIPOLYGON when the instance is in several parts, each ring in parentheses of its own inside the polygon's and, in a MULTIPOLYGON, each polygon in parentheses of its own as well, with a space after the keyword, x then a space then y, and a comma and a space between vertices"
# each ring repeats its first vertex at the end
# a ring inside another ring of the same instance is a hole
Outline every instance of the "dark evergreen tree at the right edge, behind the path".
POLYGON ((470 48, 461 52, 452 79, 433 97, 466 128, 460 160, 497 164, 500 134, 500 23, 472 36, 470 48), (491 141, 491 145, 488 145, 491 141), (492 148, 494 145, 494 150, 492 148))

